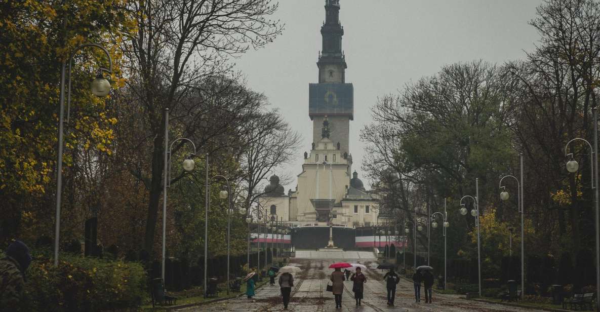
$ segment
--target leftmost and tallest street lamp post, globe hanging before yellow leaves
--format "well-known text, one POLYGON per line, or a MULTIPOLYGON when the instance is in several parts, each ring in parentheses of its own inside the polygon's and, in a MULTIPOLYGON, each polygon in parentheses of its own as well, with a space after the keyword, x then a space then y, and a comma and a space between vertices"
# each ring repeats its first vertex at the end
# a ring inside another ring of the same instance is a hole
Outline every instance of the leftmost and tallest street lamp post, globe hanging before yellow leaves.
MULTIPOLYGON (((109 68, 99 67, 98 75, 96 79, 92 81, 91 89, 92 94, 97 97, 106 97, 110 92, 110 83, 102 76, 103 72, 112 74, 112 58, 108 50, 105 47, 97 43, 85 43, 73 50, 73 53, 69 56, 69 67, 68 67, 68 92, 67 92, 67 120, 71 107, 71 64, 73 64, 73 57, 77 52, 82 50, 84 47, 96 47, 104 51, 104 54, 109 59, 109 68)), ((62 150, 64 141, 64 119, 65 119, 65 78, 67 71, 67 63, 62 62, 61 65, 61 95, 58 112, 58 155, 56 160, 56 220, 55 220, 55 235, 54 235, 54 266, 58 266, 58 247, 60 242, 61 232, 61 196, 62 196, 62 150)))

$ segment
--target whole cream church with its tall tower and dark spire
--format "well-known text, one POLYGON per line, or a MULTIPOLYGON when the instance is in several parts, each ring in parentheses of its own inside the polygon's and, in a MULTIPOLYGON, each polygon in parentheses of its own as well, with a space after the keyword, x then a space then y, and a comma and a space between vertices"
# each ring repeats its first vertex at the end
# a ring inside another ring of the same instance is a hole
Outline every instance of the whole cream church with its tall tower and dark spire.
POLYGON ((354 88, 346 82, 340 1, 326 0, 325 14, 321 27, 322 52, 317 62, 318 83, 308 85, 308 118, 313 121, 311 151, 304 152, 295 190, 285 193, 277 176, 272 176, 259 202, 272 221, 283 221, 319 236, 317 247, 323 247, 327 241, 330 226, 335 227, 334 241, 347 241, 344 245, 358 247, 356 229, 372 228, 385 224, 386 220, 379 218, 377 198, 352 171, 350 122, 354 88))

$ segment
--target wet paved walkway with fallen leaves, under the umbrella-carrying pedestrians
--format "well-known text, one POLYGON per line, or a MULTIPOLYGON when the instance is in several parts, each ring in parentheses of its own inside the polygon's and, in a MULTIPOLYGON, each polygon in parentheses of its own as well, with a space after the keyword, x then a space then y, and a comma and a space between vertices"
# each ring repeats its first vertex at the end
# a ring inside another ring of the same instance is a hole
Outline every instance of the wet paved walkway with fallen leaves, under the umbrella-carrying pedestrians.
MULTIPOLYGON (((433 304, 425 304, 424 298, 421 298, 421 303, 415 302, 414 290, 412 283, 406 280, 401 280, 397 286, 395 306, 386 305, 386 289, 383 282, 383 273, 380 270, 369 268, 367 275, 367 283, 365 284, 364 298, 361 307, 356 307, 352 293, 352 281, 346 281, 345 292, 342 297, 342 309, 335 309, 335 302, 331 292, 326 292, 325 287, 329 280, 329 274, 332 269, 328 266, 332 263, 331 259, 292 259, 304 271, 296 274, 295 285, 292 290, 292 299, 288 310, 295 312, 322 312, 322 311, 435 311, 435 312, 541 312, 541 310, 528 310, 518 307, 508 307, 506 305, 487 304, 485 302, 467 301, 458 298, 457 295, 439 295, 433 294, 433 304)), ((376 263, 371 263, 370 260, 362 259, 361 263, 371 267, 376 266, 376 263)), ((421 290, 422 291, 422 290, 421 290)), ((421 292, 423 295, 423 292, 421 292)), ((199 307, 186 308, 179 311, 210 311, 210 312, 226 312, 226 311, 244 311, 244 312, 267 312, 267 311, 282 311, 283 304, 281 303, 280 290, 277 284, 275 286, 261 287, 256 292, 253 299, 247 299, 241 296, 227 301, 215 302, 209 305, 200 305, 199 307)))

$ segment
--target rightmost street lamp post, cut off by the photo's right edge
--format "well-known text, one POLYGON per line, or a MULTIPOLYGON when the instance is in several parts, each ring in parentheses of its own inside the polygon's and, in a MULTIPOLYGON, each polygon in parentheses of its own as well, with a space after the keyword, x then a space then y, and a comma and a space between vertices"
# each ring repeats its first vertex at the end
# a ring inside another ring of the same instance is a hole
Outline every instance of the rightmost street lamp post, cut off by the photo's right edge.
MULTIPOLYGON (((571 156, 571 160, 566 163, 566 170, 571 173, 577 172, 579 164, 573 158, 573 154, 567 154, 569 144, 576 140, 587 143, 590 148, 590 174, 592 175, 592 188, 594 190, 594 208, 596 211, 596 298, 600 298, 600 210, 598 208, 598 109, 597 107, 592 108, 593 111, 593 124, 594 124, 594 145, 590 144, 586 139, 577 137, 570 140, 565 145, 565 156, 571 156)), ((521 172, 523 174, 523 172, 521 172)), ((600 311, 600 299, 596 299, 596 311, 600 311)))

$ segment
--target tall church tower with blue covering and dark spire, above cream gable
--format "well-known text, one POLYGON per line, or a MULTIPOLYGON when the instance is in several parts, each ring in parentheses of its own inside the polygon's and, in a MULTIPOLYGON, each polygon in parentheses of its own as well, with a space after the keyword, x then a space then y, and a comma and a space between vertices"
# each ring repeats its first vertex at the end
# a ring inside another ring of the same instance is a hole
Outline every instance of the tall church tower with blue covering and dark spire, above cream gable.
POLYGON ((323 119, 328 116, 329 139, 350 154, 350 121, 354 118, 354 90, 346 83, 346 56, 341 48, 344 28, 340 23, 340 0, 325 0, 325 22, 321 26, 319 83, 308 85, 308 116, 313 121, 313 143, 319 142, 323 119))

